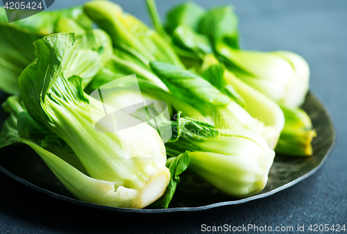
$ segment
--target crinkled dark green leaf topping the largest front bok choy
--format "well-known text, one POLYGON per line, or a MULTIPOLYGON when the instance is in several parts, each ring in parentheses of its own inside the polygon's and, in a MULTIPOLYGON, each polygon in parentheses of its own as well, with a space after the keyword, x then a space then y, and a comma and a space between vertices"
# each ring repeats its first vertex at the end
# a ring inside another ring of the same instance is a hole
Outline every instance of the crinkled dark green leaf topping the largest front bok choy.
MULTIPOLYGON (((34 42, 35 57, 40 59, 24 69, 19 76, 19 87, 24 105, 35 122, 43 125, 47 125, 47 120, 51 122, 42 104, 53 83, 62 76, 77 44, 73 33, 53 34, 34 42)), ((65 85, 57 85, 56 89, 59 88, 65 85)))

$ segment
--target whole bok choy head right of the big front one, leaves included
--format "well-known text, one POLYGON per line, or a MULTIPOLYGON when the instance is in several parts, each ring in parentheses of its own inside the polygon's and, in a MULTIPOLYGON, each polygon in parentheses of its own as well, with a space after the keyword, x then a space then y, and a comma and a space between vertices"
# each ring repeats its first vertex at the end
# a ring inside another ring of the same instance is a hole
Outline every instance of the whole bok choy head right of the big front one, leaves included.
POLYGON ((176 131, 165 144, 167 151, 179 154, 178 160, 188 157, 188 169, 205 181, 232 197, 249 197, 264 189, 275 152, 261 135, 229 135, 179 114, 173 126, 176 131))

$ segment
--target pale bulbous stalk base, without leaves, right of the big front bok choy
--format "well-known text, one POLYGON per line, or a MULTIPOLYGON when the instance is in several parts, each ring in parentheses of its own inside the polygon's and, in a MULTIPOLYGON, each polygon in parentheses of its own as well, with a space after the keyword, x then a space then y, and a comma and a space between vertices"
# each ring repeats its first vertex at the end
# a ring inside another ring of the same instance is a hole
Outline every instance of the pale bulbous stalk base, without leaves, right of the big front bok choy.
POLYGON ((189 152, 189 169, 232 197, 249 197, 264 189, 275 152, 260 135, 248 131, 206 143, 200 145, 202 151, 189 152))

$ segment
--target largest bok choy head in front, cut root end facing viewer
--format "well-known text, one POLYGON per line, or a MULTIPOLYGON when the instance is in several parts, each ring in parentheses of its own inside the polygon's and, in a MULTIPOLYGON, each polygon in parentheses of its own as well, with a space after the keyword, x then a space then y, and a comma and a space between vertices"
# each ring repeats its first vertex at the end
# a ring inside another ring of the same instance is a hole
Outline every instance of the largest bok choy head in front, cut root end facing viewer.
MULTIPOLYGON (((34 121, 67 142, 90 177, 110 181, 113 187, 108 184, 107 191, 117 198, 107 206, 144 208, 162 196, 169 169, 158 133, 144 123, 128 126, 124 113, 114 118, 105 103, 83 92, 81 77, 65 76, 78 47, 73 33, 49 35, 34 46, 36 59, 19 76, 24 105, 34 121)), ((83 191, 72 192, 85 199, 83 191)))

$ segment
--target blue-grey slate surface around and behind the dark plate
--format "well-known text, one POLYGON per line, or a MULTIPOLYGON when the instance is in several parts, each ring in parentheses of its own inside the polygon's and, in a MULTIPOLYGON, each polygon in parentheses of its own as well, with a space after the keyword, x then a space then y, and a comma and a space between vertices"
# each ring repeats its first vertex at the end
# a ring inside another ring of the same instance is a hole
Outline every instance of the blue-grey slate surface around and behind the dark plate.
MULTIPOLYGON (((162 17, 167 9, 180 2, 157 1, 162 17)), ((51 8, 75 6, 83 2, 57 0, 51 8)), ((301 54, 309 62, 311 90, 328 107, 337 129, 335 149, 319 172, 266 199, 225 210, 171 217, 124 216, 80 208, 35 192, 0 174, 1 234, 201 233, 201 224, 273 227, 305 224, 306 228, 310 224, 347 225, 347 1, 197 2, 207 8, 234 4, 240 18, 244 49, 285 49, 301 54)), ((149 24, 144 0, 118 3, 149 24)))

